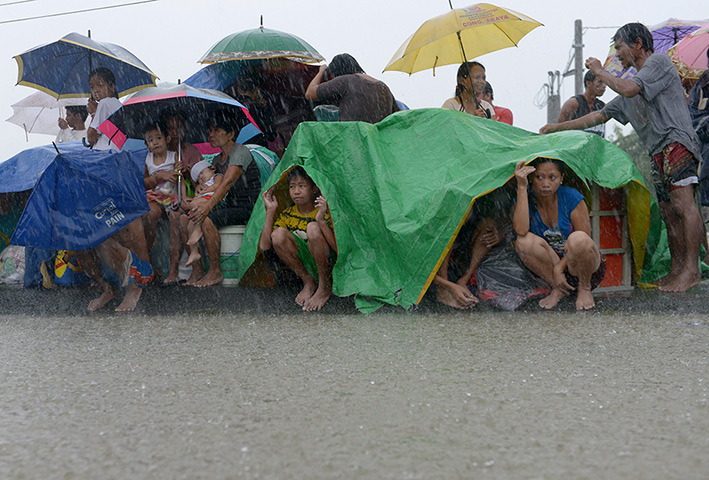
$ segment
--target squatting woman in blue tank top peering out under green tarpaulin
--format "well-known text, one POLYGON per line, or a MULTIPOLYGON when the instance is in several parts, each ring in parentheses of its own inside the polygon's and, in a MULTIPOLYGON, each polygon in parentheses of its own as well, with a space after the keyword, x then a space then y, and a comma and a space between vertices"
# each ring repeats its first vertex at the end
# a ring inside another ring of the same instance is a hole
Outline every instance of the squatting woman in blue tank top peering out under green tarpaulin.
POLYGON ((605 261, 591 239, 583 195, 561 185, 564 170, 563 162, 543 157, 515 167, 515 246, 527 268, 552 288, 539 301, 542 308, 554 308, 576 290, 576 309, 588 310, 595 306, 591 290, 603 280, 605 261))

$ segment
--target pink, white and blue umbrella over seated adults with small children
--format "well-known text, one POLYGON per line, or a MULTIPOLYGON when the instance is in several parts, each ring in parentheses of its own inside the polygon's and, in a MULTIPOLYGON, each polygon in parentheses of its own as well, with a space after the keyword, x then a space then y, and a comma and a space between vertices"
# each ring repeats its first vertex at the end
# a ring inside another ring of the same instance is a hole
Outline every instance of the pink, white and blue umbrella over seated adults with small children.
POLYGON ((99 130, 108 135, 118 147, 122 147, 128 138, 142 139, 145 125, 158 121, 160 113, 167 109, 183 114, 184 140, 189 143, 209 141, 208 130, 212 116, 221 109, 232 112, 237 122, 242 125, 237 142, 244 143, 260 132, 246 107, 229 95, 185 84, 141 90, 99 125, 99 130))

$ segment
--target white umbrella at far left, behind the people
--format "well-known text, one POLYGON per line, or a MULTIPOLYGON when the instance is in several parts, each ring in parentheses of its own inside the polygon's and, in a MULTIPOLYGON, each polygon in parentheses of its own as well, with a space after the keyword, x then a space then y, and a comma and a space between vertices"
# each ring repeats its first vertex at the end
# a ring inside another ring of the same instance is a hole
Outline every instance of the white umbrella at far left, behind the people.
POLYGON ((65 115, 64 107, 86 106, 85 98, 63 98, 57 100, 44 92, 35 92, 12 105, 13 114, 8 122, 22 127, 26 133, 56 135, 59 133, 57 120, 65 115))

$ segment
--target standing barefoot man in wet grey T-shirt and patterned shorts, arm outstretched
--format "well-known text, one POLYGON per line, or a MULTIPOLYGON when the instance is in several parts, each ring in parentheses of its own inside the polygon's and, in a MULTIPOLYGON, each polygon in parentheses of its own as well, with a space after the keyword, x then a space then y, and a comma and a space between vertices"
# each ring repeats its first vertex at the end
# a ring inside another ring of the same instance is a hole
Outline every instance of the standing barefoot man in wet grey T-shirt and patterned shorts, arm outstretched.
POLYGON ((623 67, 638 74, 621 79, 603 70, 596 58, 586 67, 619 95, 602 110, 563 123, 543 126, 539 133, 585 129, 611 118, 630 124, 652 157, 652 176, 672 262, 670 272, 655 282, 660 290, 683 292, 699 283, 699 247, 704 225, 694 202, 699 183, 699 141, 677 70, 667 55, 654 53, 650 31, 641 23, 628 23, 613 36, 623 67))

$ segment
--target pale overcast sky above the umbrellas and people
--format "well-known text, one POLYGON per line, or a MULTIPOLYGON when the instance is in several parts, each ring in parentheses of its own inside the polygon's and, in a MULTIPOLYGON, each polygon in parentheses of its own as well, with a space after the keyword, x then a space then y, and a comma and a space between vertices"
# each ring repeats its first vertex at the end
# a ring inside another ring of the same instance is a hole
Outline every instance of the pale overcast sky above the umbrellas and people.
MULTIPOLYGON (((15 19, 93 9, 136 0, 64 1, 0 0, 0 161, 19 151, 50 143, 53 138, 25 133, 4 121, 12 115, 10 105, 35 92, 17 83, 17 63, 12 58, 34 46, 58 40, 70 32, 97 41, 119 44, 140 58, 161 80, 176 82, 195 73, 197 60, 221 38, 241 30, 264 26, 298 35, 327 61, 338 53, 352 54, 365 71, 382 79, 394 95, 411 108, 439 107, 452 96, 457 66, 409 76, 382 73, 399 46, 425 20, 449 10, 447 0, 158 0, 152 3, 77 13, 66 16, 9 22, 15 19)), ((453 1, 454 7, 469 3, 453 1)), ((552 1, 503 0, 508 7, 543 23, 522 39, 518 47, 489 53, 478 60, 487 69, 495 90, 495 103, 511 108, 515 125, 536 132, 546 123, 546 108, 535 106, 535 97, 548 81, 547 72, 563 72, 570 58, 574 20, 584 25, 584 57, 603 61, 610 37, 624 23, 646 25, 667 18, 701 19, 709 11, 701 2, 648 0, 552 1), (639 5, 643 5, 640 7, 639 5), (612 28, 602 28, 612 27, 612 28)), ((562 102, 574 94, 573 77, 561 87, 562 102)), ((607 91, 608 101, 615 94, 607 91)))

